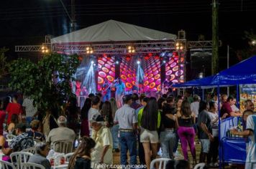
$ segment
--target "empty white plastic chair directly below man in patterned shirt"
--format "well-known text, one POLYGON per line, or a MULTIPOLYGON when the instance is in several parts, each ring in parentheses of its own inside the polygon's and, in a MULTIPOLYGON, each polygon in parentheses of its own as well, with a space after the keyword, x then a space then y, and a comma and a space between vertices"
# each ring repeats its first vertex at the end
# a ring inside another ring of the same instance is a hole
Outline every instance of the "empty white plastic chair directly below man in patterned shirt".
POLYGON ((10 155, 12 164, 16 166, 17 169, 21 168, 21 163, 27 163, 29 158, 32 156, 29 152, 14 152, 10 155))

